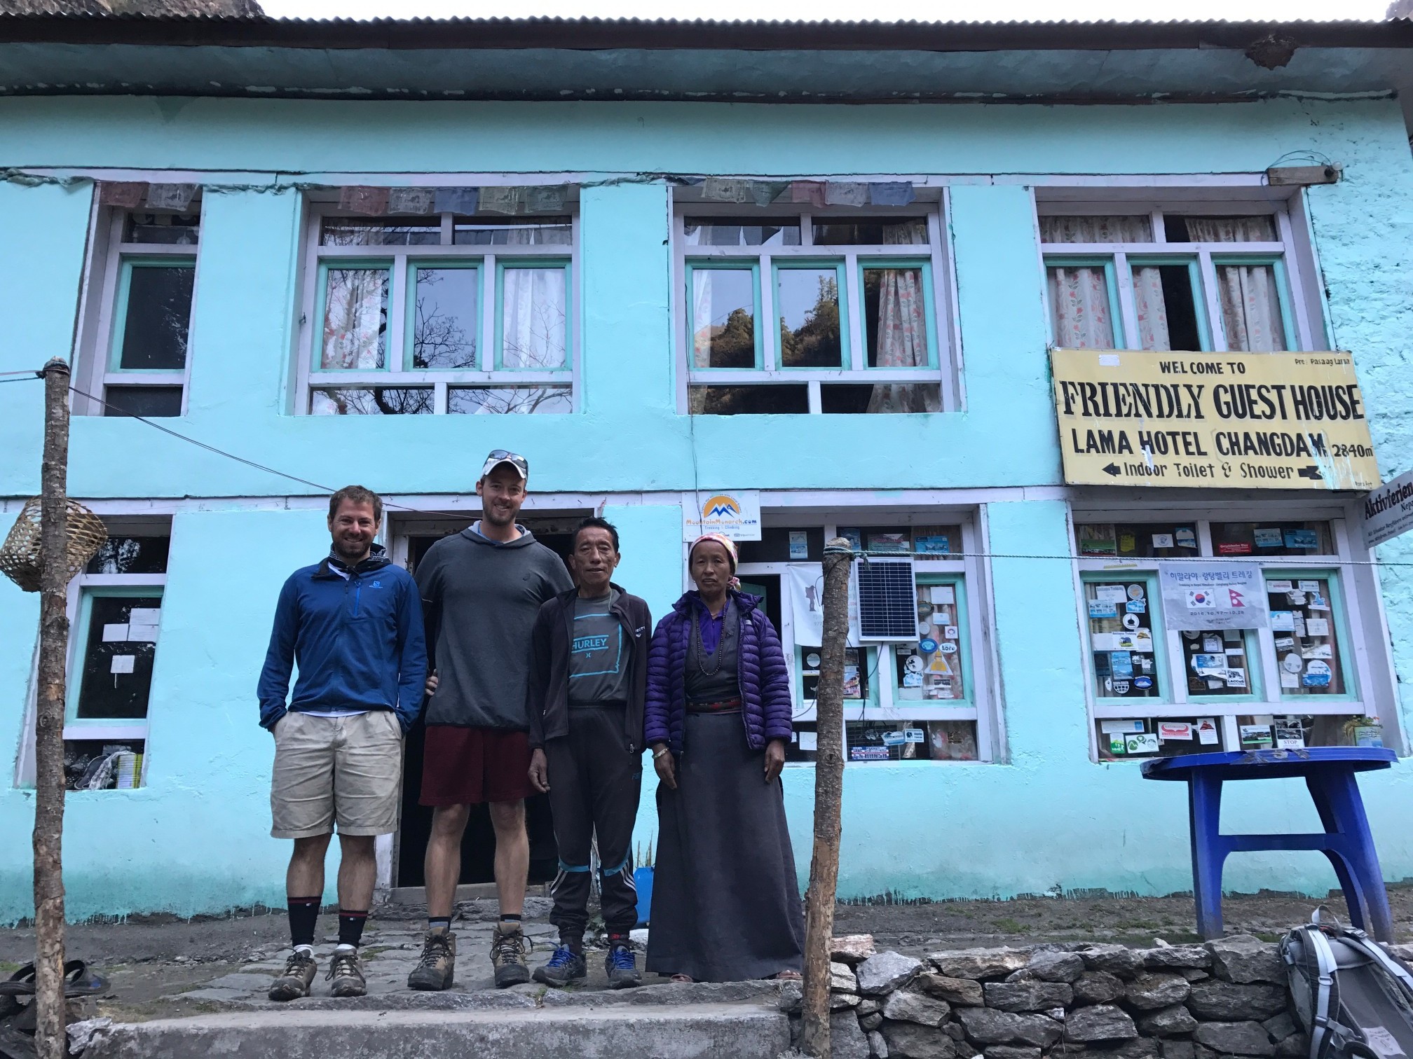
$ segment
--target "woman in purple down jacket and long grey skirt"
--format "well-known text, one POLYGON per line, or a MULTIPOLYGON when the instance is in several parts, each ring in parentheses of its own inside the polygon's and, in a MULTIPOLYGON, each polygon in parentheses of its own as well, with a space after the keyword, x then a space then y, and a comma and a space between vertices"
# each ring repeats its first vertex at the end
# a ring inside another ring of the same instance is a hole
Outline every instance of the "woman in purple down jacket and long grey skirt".
POLYGON ((784 652, 760 600, 739 592, 731 539, 699 538, 688 568, 697 590, 657 624, 647 657, 644 741, 660 781, 647 969, 674 981, 798 979, 784 652))

